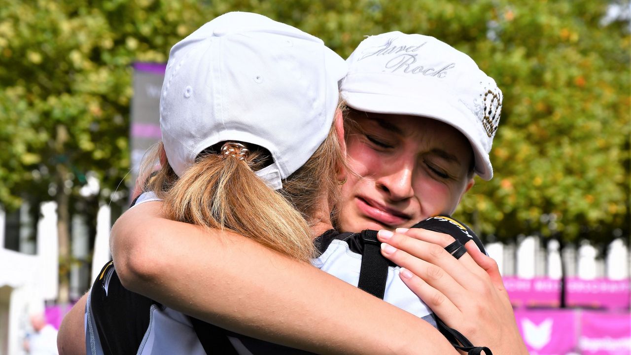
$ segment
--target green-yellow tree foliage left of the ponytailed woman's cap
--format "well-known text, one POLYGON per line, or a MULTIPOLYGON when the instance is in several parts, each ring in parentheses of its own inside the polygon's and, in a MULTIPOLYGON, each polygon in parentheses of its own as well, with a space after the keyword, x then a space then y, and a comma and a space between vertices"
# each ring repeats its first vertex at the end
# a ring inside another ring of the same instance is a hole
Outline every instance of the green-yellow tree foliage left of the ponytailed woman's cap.
POLYGON ((76 194, 88 172, 117 188, 129 169, 131 64, 165 61, 200 13, 193 1, 0 0, 0 202, 76 194))

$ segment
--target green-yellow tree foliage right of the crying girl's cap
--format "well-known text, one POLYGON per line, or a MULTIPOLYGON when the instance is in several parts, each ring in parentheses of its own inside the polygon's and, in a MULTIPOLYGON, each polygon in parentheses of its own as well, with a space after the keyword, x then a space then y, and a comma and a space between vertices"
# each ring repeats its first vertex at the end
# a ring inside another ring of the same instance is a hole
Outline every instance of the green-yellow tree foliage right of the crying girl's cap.
POLYGON ((607 7, 507 3, 496 8, 497 40, 476 42, 472 56, 505 94, 495 178, 463 206, 484 232, 628 236, 630 37, 628 20, 603 25, 607 7))

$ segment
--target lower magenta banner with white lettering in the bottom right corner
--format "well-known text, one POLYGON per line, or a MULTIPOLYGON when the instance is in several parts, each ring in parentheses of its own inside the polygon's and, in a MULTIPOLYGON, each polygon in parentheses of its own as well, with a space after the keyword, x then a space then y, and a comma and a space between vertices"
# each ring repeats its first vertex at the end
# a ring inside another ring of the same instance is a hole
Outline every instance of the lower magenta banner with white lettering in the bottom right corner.
POLYGON ((631 315, 583 311, 579 349, 582 355, 630 355, 631 315))

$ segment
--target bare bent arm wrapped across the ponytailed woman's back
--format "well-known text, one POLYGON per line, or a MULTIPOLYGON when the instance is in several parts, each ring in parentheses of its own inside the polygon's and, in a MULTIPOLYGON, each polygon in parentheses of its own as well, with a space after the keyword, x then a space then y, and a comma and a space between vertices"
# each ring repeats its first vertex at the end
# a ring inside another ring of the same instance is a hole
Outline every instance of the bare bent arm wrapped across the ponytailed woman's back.
POLYGON ((457 353, 420 318, 250 239, 163 219, 158 202, 122 215, 111 243, 125 287, 235 332, 326 354, 457 353))

